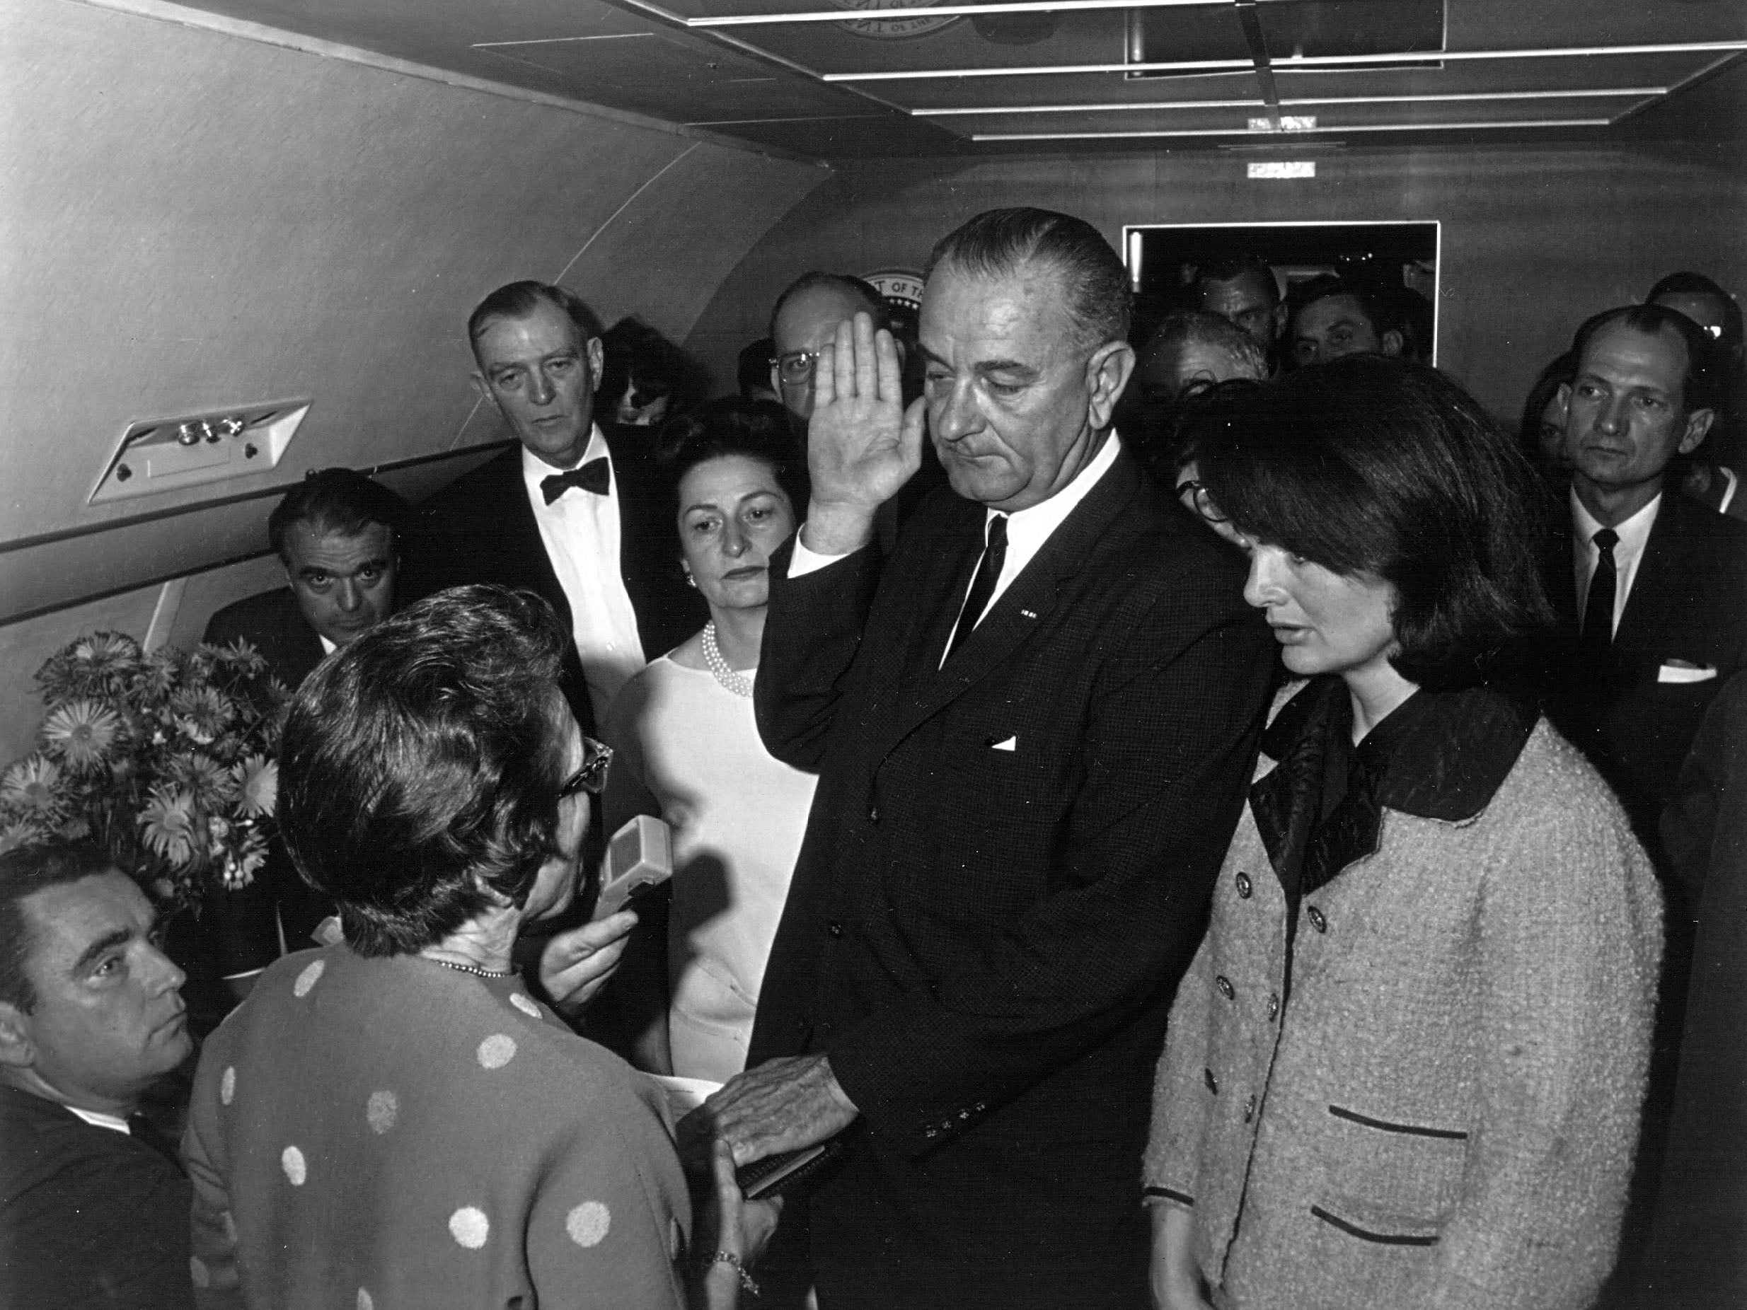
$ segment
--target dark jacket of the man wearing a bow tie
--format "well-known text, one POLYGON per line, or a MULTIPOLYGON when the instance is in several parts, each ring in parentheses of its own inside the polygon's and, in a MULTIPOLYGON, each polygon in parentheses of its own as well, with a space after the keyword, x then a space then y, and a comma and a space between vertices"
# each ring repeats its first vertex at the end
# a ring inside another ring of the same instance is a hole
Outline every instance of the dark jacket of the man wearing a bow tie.
MULTIPOLYGON (((697 632, 709 618, 709 608, 685 585, 673 486, 655 466, 648 430, 603 423, 601 435, 613 456, 617 479, 618 575, 638 615, 643 657, 653 660, 697 632)), ((475 582, 528 587, 543 596, 563 629, 571 631, 570 601, 528 505, 521 445, 510 445, 461 475, 423 508, 425 524, 414 533, 400 576, 407 601, 475 582)), ((594 713, 575 643, 566 643, 561 685, 571 713, 589 732, 594 713)))

